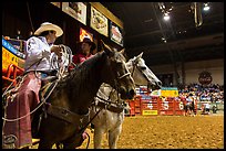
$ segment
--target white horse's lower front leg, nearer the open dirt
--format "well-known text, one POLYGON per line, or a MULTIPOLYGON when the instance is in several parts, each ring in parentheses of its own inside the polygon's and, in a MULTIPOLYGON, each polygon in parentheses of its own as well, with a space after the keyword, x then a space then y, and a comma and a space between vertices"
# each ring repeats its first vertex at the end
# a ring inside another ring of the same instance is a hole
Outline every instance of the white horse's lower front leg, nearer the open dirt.
POLYGON ((116 149, 116 142, 119 140, 121 132, 122 132, 122 125, 120 125, 117 128, 109 131, 109 147, 110 147, 110 149, 116 149))

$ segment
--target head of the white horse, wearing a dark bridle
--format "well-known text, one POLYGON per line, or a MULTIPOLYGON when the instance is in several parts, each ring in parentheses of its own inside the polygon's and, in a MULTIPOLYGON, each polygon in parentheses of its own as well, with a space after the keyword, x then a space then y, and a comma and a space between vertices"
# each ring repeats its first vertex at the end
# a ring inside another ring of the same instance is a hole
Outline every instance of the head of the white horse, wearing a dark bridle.
POLYGON ((147 85, 148 88, 160 89, 162 82, 155 76, 155 74, 146 66, 142 58, 143 52, 131 58, 126 65, 131 71, 132 77, 136 85, 147 85))

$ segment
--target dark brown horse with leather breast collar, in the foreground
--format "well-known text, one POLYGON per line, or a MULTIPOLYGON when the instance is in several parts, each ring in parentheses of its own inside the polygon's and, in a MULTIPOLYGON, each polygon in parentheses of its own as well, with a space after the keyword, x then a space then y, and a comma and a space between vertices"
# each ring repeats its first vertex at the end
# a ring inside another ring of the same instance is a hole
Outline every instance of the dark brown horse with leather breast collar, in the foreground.
MULTIPOLYGON (((119 90, 122 99, 132 99, 135 85, 121 52, 103 44, 104 51, 95 54, 75 67, 59 82, 44 106, 39 132, 39 149, 50 149, 63 143, 64 149, 81 144, 81 133, 89 122, 89 107, 102 85, 110 84, 119 90)), ((37 126, 35 112, 33 126, 37 126)))

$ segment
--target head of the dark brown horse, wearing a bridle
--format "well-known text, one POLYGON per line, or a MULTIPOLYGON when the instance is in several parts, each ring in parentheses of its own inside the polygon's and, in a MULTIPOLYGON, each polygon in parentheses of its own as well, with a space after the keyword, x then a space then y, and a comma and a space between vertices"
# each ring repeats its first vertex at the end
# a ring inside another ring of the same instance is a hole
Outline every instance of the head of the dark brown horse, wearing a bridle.
POLYGON ((106 84, 110 84, 120 94, 122 99, 132 99, 135 96, 135 84, 130 71, 125 64, 123 50, 117 52, 104 44, 102 41, 104 54, 107 55, 106 67, 103 71, 106 84))

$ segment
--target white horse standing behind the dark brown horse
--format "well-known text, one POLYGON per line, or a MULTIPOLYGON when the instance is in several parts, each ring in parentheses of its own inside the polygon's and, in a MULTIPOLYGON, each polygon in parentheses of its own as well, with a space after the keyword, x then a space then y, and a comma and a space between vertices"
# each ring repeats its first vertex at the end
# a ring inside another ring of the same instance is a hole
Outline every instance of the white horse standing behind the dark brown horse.
MULTIPOLYGON (((135 84, 161 88, 161 80, 145 65, 142 55, 143 53, 126 63, 135 84)), ((119 93, 106 84, 101 85, 96 96, 95 105, 91 107, 90 111, 90 118, 93 118, 92 123, 94 125, 94 149, 101 148, 104 133, 109 134, 110 149, 116 149, 124 120, 124 100, 119 99, 119 93)))

